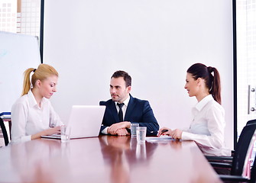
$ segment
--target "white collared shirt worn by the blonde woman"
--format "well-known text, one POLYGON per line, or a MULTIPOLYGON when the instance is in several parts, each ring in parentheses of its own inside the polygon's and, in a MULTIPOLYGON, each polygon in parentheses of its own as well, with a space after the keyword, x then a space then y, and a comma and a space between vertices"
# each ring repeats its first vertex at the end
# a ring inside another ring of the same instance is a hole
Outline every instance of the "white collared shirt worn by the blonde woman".
POLYGON ((53 110, 50 101, 42 98, 38 106, 31 90, 13 104, 11 108, 11 142, 31 140, 31 135, 47 130, 50 124, 63 124, 53 110))

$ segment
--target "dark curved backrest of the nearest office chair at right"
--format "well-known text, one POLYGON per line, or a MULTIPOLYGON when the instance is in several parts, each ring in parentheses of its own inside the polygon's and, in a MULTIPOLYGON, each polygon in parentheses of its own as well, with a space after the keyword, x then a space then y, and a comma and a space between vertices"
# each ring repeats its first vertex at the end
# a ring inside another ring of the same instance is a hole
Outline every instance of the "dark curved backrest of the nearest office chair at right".
MULTIPOLYGON (((256 121, 256 120, 255 120, 256 121)), ((256 123, 246 125, 241 131, 238 143, 235 147, 235 153, 232 161, 231 175, 242 175, 245 165, 245 159, 248 155, 248 148, 256 130, 256 123)))

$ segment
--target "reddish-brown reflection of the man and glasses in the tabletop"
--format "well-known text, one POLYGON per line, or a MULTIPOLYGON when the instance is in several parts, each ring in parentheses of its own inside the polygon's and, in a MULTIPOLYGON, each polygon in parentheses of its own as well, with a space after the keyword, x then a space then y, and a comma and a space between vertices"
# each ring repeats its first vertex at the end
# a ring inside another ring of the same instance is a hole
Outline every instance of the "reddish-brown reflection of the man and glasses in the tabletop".
POLYGON ((130 136, 102 136, 99 138, 105 164, 110 166, 110 181, 129 183, 132 167, 150 161, 157 143, 137 143, 130 136))

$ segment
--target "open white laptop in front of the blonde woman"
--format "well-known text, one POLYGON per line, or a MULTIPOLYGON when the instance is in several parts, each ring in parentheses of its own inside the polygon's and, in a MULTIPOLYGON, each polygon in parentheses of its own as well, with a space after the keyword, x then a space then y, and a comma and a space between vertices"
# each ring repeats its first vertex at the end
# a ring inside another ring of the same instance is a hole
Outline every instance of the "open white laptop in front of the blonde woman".
MULTIPOLYGON (((99 136, 104 112, 104 105, 73 105, 66 125, 66 130, 70 130, 70 139, 99 136)), ((60 139, 60 134, 41 137, 60 139)))

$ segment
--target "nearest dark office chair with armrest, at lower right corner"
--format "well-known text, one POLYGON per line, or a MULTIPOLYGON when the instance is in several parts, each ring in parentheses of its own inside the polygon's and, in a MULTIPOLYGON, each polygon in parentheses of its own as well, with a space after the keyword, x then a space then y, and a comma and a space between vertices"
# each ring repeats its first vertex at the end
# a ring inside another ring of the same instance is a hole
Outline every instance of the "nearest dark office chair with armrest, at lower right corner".
POLYGON ((248 162, 249 156, 256 139, 256 124, 246 125, 239 137, 238 144, 235 148, 232 164, 222 162, 210 162, 215 169, 230 169, 230 175, 245 175, 245 163, 248 162))

